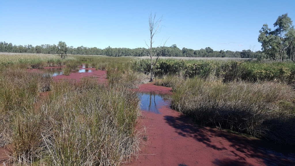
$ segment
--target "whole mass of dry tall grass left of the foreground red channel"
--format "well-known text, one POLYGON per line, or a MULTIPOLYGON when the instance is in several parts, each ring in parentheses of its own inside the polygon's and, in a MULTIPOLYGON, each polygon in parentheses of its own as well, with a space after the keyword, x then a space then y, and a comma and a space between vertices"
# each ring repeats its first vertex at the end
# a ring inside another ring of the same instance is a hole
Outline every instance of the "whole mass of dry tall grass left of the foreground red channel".
POLYGON ((135 92, 94 79, 53 82, 40 72, 0 70, 0 146, 12 145, 14 165, 120 165, 137 154, 135 92))

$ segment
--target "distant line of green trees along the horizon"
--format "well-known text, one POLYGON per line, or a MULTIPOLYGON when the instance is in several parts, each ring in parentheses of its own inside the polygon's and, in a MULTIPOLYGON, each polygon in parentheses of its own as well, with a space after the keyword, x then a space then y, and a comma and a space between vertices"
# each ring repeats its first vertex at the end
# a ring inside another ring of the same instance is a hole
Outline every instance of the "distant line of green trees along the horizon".
MULTIPOLYGON (((64 42, 62 42, 64 43, 64 42)), ((65 43, 64 43, 65 44, 65 43)), ((100 48, 89 48, 80 46, 74 48, 73 46, 66 46, 65 53, 73 55, 105 55, 105 56, 147 56, 145 51, 148 52, 146 48, 111 48, 110 46, 104 49, 100 48)), ((0 42, 0 52, 9 53, 44 53, 44 54, 58 54, 60 53, 60 46, 42 44, 36 45, 13 45, 12 43, 0 42)), ((190 48, 179 49, 175 44, 170 47, 163 46, 159 49, 159 56, 168 57, 231 57, 231 58, 260 58, 261 51, 253 52, 250 49, 242 51, 214 51, 210 47, 205 49, 194 50, 190 48)))

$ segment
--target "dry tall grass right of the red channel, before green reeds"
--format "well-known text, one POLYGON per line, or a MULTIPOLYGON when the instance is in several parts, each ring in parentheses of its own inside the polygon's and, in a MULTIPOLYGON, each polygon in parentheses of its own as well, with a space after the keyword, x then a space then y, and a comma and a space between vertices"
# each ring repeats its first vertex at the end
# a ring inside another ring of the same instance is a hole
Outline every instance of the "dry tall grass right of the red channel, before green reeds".
POLYGON ((188 79, 173 88, 172 107, 203 125, 281 143, 295 142, 295 92, 274 82, 188 79))

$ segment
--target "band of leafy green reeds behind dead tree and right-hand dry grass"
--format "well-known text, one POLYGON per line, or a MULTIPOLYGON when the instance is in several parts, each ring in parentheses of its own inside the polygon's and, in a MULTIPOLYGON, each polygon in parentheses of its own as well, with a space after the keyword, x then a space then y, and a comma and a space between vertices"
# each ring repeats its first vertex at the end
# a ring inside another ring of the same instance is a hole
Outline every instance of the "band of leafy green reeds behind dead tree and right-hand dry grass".
MULTIPOLYGON (((149 71, 148 59, 132 61, 136 71, 147 73, 149 71)), ((155 67, 155 76, 180 75, 182 77, 214 77, 223 82, 244 80, 250 82, 277 80, 291 82, 295 73, 295 64, 262 63, 259 61, 214 61, 214 60, 175 60, 160 59, 155 67)))

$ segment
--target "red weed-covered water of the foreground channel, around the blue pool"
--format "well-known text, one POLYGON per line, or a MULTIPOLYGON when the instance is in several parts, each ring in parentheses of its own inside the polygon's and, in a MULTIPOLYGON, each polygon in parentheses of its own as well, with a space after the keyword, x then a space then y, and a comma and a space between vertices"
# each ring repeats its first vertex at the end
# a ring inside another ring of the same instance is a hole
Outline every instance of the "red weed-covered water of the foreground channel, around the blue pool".
MULTIPOLYGON (((138 91, 171 94, 171 88, 152 83, 140 85, 138 91)), ((139 126, 147 128, 148 140, 143 141, 138 158, 124 165, 295 165, 291 147, 195 125, 190 117, 169 105, 163 105, 160 112, 142 111, 144 118, 139 126)))

